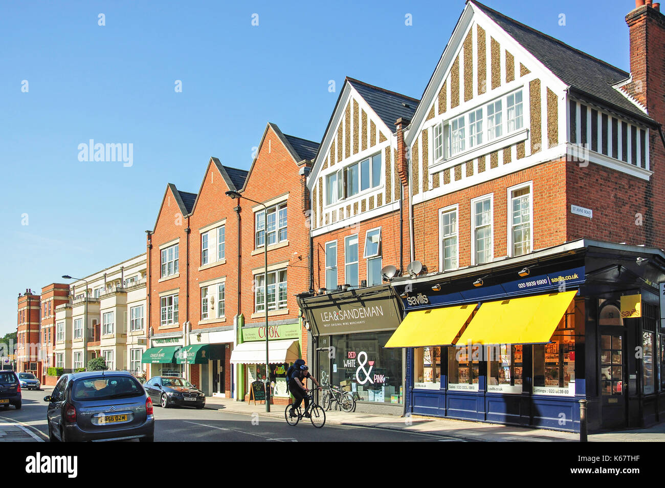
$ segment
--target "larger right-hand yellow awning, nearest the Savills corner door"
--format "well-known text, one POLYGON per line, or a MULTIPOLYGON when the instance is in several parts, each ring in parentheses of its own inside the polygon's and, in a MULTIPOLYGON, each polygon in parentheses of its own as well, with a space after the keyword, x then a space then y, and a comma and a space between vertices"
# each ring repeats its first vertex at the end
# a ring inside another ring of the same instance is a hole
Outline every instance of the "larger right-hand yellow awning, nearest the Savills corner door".
POLYGON ((458 346, 469 344, 543 344, 551 340, 575 298, 572 292, 487 302, 466 328, 458 346))

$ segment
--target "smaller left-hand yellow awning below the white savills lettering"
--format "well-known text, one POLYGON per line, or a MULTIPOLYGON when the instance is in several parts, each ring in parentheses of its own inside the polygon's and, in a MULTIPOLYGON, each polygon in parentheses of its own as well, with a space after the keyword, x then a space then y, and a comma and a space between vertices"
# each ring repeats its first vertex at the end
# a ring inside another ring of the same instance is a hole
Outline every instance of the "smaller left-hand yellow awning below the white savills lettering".
POLYGON ((386 343, 386 348, 450 346, 477 304, 409 312, 386 343))

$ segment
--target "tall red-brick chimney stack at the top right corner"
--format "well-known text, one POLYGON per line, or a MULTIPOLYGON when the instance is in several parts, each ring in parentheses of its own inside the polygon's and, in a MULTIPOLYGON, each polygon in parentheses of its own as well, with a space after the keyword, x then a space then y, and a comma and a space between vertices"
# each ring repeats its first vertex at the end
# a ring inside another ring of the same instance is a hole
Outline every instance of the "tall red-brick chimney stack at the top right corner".
POLYGON ((630 75, 624 87, 644 105, 652 119, 665 123, 665 15, 660 5, 646 0, 626 15, 630 31, 630 75), (642 5, 644 4, 644 5, 642 5))

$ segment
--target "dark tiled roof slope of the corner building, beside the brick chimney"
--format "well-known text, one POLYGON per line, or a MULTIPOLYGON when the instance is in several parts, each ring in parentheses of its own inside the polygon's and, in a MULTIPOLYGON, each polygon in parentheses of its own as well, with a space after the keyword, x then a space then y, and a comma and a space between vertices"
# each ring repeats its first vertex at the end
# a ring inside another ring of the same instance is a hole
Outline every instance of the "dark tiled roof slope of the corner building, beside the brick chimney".
POLYGON ((556 77, 570 85, 580 95, 587 95, 600 103, 612 105, 627 115, 650 120, 644 111, 612 87, 628 79, 629 73, 506 17, 482 3, 471 1, 556 77))

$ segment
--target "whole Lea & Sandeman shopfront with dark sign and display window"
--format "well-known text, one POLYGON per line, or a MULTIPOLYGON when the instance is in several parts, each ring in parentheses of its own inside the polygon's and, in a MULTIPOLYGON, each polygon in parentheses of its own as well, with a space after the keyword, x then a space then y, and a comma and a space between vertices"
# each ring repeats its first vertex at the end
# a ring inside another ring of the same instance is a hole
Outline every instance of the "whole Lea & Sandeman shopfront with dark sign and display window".
POLYGON ((384 284, 298 300, 315 346, 315 377, 352 391, 356 411, 401 415, 405 352, 384 347, 402 318, 393 288, 384 284))

